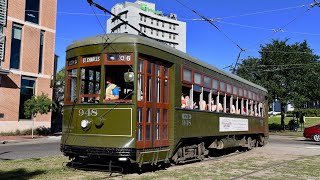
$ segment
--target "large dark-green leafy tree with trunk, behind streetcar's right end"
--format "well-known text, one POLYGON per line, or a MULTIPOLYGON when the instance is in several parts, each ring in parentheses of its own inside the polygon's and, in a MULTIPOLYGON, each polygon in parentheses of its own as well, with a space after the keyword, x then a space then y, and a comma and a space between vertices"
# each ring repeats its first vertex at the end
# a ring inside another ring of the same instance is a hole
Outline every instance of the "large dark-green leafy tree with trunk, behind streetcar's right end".
MULTIPOLYGON (((235 69, 235 74, 265 87, 270 103, 279 100, 281 114, 288 103, 300 108, 320 97, 319 56, 306 41, 288 44, 288 40, 272 40, 261 46, 259 58, 248 57, 235 69)), ((282 128, 284 125, 281 116, 282 128)))

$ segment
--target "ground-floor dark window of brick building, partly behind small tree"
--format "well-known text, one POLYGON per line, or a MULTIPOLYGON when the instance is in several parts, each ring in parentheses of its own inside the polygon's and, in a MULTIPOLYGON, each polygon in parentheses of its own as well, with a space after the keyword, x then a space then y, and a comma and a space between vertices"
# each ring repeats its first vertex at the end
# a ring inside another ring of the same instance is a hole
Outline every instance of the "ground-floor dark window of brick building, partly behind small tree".
POLYGON ((24 103, 34 95, 35 82, 34 78, 24 76, 21 78, 19 119, 27 119, 24 115, 24 103))

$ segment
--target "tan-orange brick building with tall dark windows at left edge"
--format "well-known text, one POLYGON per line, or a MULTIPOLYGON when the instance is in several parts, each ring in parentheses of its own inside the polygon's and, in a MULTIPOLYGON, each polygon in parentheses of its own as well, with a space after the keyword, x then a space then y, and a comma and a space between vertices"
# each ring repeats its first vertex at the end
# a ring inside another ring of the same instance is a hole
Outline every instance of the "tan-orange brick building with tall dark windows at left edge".
MULTIPOLYGON (((52 97, 57 0, 0 0, 0 132, 29 129, 24 102, 52 97)), ((51 114, 36 126, 50 127, 51 114)))

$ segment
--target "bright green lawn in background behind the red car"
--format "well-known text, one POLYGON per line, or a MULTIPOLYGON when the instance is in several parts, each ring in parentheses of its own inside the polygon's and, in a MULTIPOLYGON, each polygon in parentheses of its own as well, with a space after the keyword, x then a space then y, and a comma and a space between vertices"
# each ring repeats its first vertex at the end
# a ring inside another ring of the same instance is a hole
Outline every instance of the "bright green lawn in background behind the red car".
MULTIPOLYGON (((292 120, 293 117, 286 117, 284 119, 285 124, 288 125, 289 121, 292 120)), ((305 123, 304 123, 304 127, 310 127, 310 126, 314 126, 316 124, 320 124, 320 117, 312 117, 312 118, 308 118, 306 117, 305 119, 305 123)), ((281 124, 281 117, 280 116, 271 116, 269 117, 269 125, 279 125, 281 124)), ((271 131, 270 134, 276 134, 276 135, 286 135, 286 136, 303 136, 303 130, 304 127, 298 128, 298 132, 294 132, 294 131, 290 131, 290 130, 286 130, 286 131, 271 131)))

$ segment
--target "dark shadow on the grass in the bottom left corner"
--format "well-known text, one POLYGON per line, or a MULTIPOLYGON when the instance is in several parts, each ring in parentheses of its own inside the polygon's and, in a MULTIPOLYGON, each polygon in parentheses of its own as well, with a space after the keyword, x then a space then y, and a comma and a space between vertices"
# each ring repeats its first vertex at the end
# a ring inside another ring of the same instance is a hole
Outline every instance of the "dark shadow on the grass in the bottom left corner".
POLYGON ((36 170, 36 171, 26 171, 24 168, 19 168, 11 171, 1 171, 0 179, 17 179, 17 180, 27 180, 32 179, 37 175, 44 174, 46 171, 36 170))

